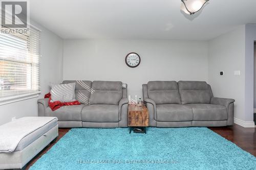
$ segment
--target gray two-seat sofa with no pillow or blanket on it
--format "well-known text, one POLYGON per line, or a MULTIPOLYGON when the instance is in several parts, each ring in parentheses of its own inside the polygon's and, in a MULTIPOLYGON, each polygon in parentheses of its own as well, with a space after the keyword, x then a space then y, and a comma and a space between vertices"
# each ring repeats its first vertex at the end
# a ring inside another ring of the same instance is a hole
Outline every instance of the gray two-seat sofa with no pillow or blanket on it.
POLYGON ((142 85, 151 127, 233 125, 234 100, 215 98, 201 81, 150 81, 142 85))

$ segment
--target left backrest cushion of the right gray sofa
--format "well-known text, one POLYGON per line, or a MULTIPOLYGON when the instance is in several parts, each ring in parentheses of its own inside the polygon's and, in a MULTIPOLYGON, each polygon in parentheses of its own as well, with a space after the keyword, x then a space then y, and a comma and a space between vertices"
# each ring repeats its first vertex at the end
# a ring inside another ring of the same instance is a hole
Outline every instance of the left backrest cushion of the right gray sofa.
POLYGON ((176 81, 150 81, 147 83, 148 98, 158 104, 180 104, 176 81))

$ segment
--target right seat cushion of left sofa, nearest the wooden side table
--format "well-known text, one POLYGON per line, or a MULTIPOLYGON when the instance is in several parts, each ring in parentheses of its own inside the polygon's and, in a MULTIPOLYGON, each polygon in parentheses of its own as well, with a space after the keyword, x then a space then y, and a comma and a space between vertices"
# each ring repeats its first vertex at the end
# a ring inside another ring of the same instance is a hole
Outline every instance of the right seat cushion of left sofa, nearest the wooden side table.
POLYGON ((118 122, 117 105, 89 105, 82 109, 82 122, 118 122))

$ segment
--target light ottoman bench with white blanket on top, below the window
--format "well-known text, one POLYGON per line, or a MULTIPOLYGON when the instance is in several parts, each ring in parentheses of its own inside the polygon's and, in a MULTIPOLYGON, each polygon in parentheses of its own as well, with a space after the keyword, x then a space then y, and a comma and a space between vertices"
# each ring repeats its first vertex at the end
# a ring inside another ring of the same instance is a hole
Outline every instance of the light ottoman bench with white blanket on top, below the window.
POLYGON ((57 117, 22 117, 0 126, 0 169, 24 169, 58 136, 57 117))

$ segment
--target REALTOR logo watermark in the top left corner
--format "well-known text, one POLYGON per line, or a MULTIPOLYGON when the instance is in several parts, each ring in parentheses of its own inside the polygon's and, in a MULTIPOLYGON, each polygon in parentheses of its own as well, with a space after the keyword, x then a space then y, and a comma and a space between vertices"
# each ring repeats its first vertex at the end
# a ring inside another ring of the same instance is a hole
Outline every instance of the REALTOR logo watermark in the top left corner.
POLYGON ((0 0, 1 33, 26 34, 29 26, 28 1, 0 0))

